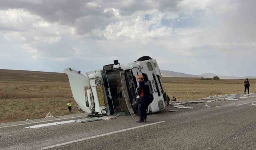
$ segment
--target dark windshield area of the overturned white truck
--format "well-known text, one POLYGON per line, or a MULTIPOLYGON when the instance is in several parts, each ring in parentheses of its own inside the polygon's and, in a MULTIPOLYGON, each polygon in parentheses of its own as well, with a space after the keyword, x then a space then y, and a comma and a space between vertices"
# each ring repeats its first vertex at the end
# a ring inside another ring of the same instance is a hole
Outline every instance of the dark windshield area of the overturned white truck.
POLYGON ((124 98, 120 70, 106 70, 115 113, 128 115, 129 110, 124 98))

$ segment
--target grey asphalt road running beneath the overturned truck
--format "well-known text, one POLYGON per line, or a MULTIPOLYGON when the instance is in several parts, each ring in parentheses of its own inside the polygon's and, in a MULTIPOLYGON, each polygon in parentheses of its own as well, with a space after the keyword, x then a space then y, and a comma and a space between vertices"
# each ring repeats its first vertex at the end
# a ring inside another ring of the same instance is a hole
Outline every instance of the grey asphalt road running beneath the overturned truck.
POLYGON ((256 104, 256 97, 193 104, 194 109, 168 106, 162 112, 148 115, 147 124, 136 123, 138 116, 119 116, 112 120, 25 128, 84 118, 79 117, 82 114, 55 121, 41 119, 0 124, 0 149, 255 150, 256 106, 253 103, 256 104), (179 111, 168 112, 168 109, 179 111))

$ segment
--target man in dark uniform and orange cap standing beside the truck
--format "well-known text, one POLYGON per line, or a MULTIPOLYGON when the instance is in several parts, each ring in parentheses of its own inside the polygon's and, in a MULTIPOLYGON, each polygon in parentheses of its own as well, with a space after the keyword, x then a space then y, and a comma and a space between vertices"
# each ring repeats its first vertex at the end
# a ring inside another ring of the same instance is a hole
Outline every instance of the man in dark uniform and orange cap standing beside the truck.
POLYGON ((140 120, 137 121, 138 123, 146 123, 147 122, 147 107, 148 105, 152 102, 150 90, 148 83, 144 81, 144 76, 139 75, 137 77, 137 80, 139 82, 138 86, 138 96, 137 98, 140 98, 140 103, 139 103, 139 117, 140 120))

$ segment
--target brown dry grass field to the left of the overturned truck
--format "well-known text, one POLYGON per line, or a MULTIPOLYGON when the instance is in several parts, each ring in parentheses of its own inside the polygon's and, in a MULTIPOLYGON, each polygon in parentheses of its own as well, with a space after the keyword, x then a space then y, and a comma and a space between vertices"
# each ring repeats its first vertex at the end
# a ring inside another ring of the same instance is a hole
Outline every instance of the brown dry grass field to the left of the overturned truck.
POLYGON ((67 103, 76 102, 68 76, 64 73, 0 69, 0 122, 44 118, 68 114, 67 103))

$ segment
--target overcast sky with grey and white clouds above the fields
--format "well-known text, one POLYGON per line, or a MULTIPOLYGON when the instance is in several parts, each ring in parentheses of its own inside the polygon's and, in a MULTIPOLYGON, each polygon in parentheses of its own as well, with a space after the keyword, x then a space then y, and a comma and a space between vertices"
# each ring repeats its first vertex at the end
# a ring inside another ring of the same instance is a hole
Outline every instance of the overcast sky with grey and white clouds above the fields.
POLYGON ((256 76, 255 0, 0 0, 0 69, 160 69, 256 76))

